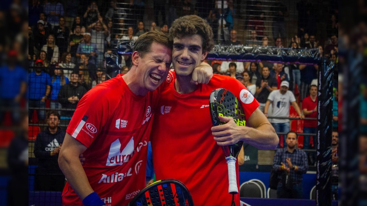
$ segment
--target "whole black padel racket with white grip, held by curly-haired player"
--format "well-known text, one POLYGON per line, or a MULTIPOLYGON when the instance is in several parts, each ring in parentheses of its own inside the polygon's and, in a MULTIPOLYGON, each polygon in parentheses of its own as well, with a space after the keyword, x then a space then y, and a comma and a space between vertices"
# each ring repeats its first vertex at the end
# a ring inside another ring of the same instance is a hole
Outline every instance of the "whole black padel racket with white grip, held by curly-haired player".
MULTIPOLYGON (((232 117, 237 125, 245 126, 245 115, 241 103, 235 95, 227 89, 214 89, 210 93, 210 115, 213 126, 225 124, 219 120, 219 116, 232 117)), ((229 146, 222 146, 228 165, 228 192, 232 195, 238 193, 236 179, 236 158, 241 150, 243 141, 229 146)))

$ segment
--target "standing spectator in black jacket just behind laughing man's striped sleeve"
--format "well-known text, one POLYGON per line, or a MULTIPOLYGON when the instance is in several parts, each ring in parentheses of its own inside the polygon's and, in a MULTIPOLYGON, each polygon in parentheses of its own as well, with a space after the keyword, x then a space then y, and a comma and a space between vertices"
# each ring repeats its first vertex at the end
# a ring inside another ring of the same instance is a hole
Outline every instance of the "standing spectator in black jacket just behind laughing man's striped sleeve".
MULTIPOLYGON (((62 85, 57 100, 63 109, 76 109, 76 105, 87 90, 79 85, 79 73, 73 72, 70 75, 70 83, 62 85)), ((74 111, 61 111, 61 123, 68 125, 74 111)))

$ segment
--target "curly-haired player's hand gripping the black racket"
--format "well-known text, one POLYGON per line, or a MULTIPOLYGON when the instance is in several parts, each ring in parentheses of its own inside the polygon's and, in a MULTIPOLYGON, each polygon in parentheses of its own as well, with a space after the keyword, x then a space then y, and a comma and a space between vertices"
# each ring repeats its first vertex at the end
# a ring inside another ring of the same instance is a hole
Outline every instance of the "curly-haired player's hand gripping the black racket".
POLYGON ((224 125, 213 126, 211 128, 214 140, 217 141, 219 146, 236 144, 246 135, 246 132, 243 131, 246 127, 237 126, 232 117, 219 116, 219 119, 222 122, 227 122, 224 125))

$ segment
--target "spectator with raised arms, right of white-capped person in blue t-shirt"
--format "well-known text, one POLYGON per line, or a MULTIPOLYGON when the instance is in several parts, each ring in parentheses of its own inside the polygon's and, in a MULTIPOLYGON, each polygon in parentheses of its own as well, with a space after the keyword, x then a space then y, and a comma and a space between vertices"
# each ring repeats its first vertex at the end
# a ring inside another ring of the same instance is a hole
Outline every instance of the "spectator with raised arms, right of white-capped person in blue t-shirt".
POLYGON ((91 43, 97 46, 97 64, 102 62, 105 52, 105 39, 107 36, 107 26, 103 23, 103 19, 99 19, 96 23, 92 23, 88 28, 93 28, 91 32, 91 43))

